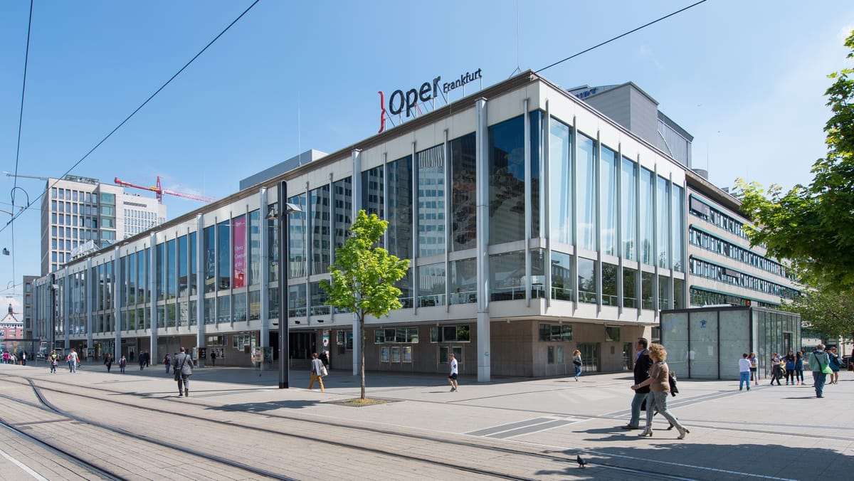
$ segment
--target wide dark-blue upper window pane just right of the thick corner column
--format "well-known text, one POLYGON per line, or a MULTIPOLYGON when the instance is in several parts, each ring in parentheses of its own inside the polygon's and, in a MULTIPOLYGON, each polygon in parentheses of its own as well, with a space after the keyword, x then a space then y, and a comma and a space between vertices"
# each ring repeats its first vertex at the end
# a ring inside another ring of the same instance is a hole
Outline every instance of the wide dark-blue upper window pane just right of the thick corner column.
POLYGON ((525 238, 524 117, 488 129, 489 243, 525 238))

